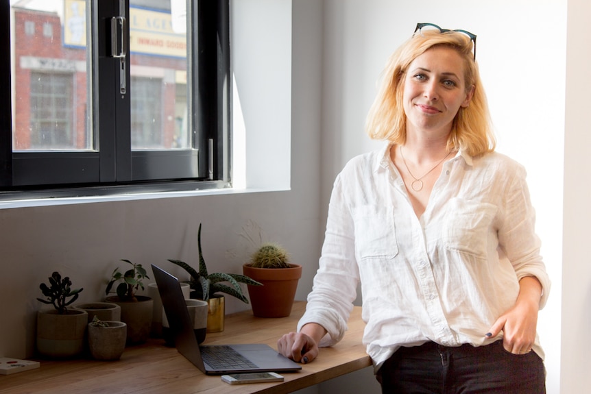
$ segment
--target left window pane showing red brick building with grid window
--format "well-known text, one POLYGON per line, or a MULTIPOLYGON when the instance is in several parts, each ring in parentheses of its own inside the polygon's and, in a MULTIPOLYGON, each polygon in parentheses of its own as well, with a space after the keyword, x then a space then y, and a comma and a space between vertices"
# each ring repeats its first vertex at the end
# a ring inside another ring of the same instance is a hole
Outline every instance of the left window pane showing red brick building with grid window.
POLYGON ((86 1, 11 0, 13 151, 93 149, 88 121, 86 1))

